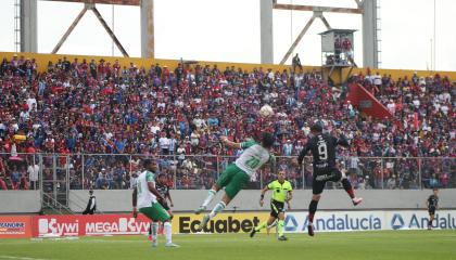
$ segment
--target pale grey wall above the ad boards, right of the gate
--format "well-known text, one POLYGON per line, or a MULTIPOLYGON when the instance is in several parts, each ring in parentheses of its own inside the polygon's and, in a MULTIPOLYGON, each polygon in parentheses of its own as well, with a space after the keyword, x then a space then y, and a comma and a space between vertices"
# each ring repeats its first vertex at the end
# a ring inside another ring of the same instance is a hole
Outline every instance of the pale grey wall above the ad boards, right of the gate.
MULTIPOLYGON (((192 211, 198 208, 207 195, 207 191, 170 191, 176 212, 192 211)), ((358 190, 356 195, 365 200, 360 207, 354 208, 343 190, 325 191, 319 209, 346 210, 346 209, 425 209, 426 199, 431 194, 429 190, 404 191, 404 190, 358 190)), ((131 210, 131 191, 94 191, 97 197, 97 209, 102 212, 126 212, 131 210)), ((218 202, 223 192, 217 194, 212 206, 218 202)), ((293 210, 306 210, 312 196, 311 190, 294 191, 291 206, 293 210)), ((76 212, 84 211, 89 194, 87 191, 69 192, 69 208, 76 212), (81 203, 84 200, 85 203, 81 203)), ((265 196, 265 202, 270 198, 270 193, 265 196)), ((241 191, 240 194, 228 205, 228 211, 258 211, 269 210, 269 205, 259 207, 259 191, 241 191)), ((441 190, 440 207, 456 208, 456 188, 441 190)), ((0 207, 1 210, 1 207, 0 207)))

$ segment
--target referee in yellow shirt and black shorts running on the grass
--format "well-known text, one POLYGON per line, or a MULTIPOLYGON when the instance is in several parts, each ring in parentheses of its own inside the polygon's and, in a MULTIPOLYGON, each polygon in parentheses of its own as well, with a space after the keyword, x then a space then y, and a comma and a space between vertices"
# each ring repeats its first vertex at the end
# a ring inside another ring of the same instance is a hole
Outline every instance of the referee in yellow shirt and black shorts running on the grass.
POLYGON ((261 223, 258 226, 252 230, 250 237, 253 237, 256 232, 273 225, 277 219, 278 221, 278 231, 279 231, 279 240, 287 240, 288 238, 283 235, 283 221, 284 221, 284 203, 287 202, 288 208, 290 209, 290 200, 293 197, 291 183, 284 179, 286 172, 283 170, 279 171, 278 178, 276 181, 267 184, 262 190, 262 195, 259 196, 259 206, 263 207, 265 193, 268 190, 273 191, 273 198, 270 199, 270 217, 267 221, 261 223))

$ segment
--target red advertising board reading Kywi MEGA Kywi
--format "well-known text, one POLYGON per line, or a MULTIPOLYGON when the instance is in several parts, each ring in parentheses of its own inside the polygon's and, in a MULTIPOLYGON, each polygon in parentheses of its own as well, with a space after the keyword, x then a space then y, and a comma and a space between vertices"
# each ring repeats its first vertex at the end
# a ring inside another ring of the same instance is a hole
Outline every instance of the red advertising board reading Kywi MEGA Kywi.
POLYGON ((84 236, 84 235, 135 235, 149 230, 149 219, 139 214, 75 214, 37 216, 33 218, 33 235, 84 236))

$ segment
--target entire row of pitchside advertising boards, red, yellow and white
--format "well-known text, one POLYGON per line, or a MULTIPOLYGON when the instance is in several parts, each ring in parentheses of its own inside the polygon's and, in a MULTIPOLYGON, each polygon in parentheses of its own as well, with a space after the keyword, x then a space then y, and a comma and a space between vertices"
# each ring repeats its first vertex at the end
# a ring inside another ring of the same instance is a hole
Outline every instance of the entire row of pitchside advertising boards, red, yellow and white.
MULTIPOLYGON (((266 211, 220 213, 208 222, 203 232, 249 233, 268 217, 266 211)), ((175 214, 173 233, 195 233, 202 218, 193 213, 175 214)), ((418 230, 427 229, 428 218, 426 210, 318 211, 314 226, 317 232, 418 230)), ((305 233, 307 224, 307 212, 287 212, 287 233, 305 233)), ((137 219, 131 214, 1 217, 0 237, 137 235, 145 234, 149 225, 149 219, 142 214, 137 219)), ((456 210, 438 210, 433 226, 456 229, 456 210)))

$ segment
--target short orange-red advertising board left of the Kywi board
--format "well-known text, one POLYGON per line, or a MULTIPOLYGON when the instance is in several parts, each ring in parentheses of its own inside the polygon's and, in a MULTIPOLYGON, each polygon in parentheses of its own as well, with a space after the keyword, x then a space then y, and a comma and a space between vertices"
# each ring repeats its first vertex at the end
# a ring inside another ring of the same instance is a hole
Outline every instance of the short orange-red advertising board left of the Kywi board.
POLYGON ((31 217, 0 217, 0 238, 31 237, 31 217))

